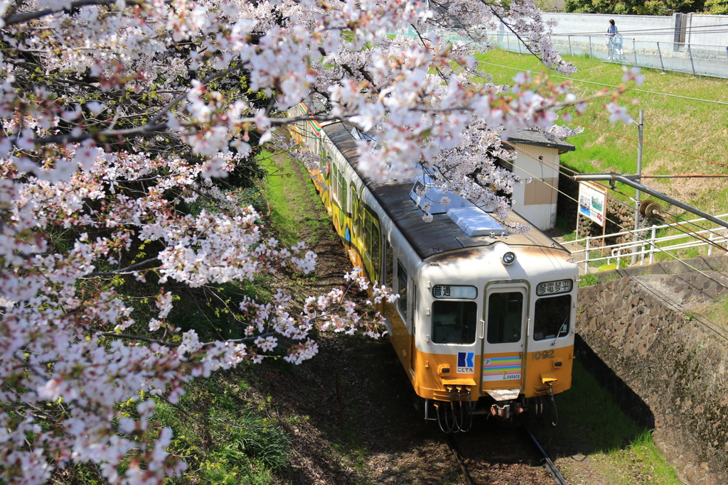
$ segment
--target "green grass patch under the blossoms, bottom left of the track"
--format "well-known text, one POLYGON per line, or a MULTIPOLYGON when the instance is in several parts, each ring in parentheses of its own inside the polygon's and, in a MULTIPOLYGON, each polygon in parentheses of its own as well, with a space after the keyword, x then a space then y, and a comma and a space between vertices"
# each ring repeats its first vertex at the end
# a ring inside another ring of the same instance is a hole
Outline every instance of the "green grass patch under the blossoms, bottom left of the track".
POLYGON ((254 371, 242 365, 186 385, 177 406, 158 400, 154 420, 173 428, 170 452, 190 465, 170 483, 267 485, 288 466, 290 438, 248 393, 246 378, 254 371))

